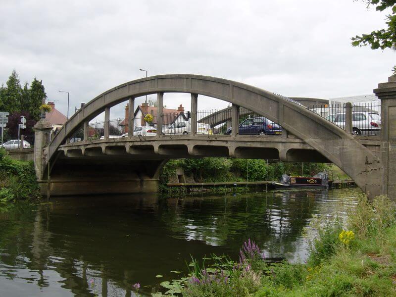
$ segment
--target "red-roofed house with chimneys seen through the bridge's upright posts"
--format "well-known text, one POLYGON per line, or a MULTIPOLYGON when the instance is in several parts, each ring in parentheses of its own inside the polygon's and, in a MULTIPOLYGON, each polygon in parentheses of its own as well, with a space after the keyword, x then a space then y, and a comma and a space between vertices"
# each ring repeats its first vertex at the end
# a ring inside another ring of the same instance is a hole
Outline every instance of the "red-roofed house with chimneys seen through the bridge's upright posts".
MULTIPOLYGON (((125 106, 125 118, 121 122, 120 126, 123 127, 123 131, 128 133, 128 113, 129 113, 129 104, 125 106)), ((162 127, 166 128, 169 125, 180 122, 180 121, 188 121, 187 115, 184 113, 183 104, 180 104, 177 109, 171 108, 163 108, 163 116, 162 116, 162 127)), ((139 105, 134 112, 134 127, 137 126, 145 126, 147 124, 156 124, 157 123, 157 107, 156 106, 148 106, 148 103, 142 103, 139 105), (145 117, 150 114, 152 116, 152 122, 148 123, 145 120, 145 117)))

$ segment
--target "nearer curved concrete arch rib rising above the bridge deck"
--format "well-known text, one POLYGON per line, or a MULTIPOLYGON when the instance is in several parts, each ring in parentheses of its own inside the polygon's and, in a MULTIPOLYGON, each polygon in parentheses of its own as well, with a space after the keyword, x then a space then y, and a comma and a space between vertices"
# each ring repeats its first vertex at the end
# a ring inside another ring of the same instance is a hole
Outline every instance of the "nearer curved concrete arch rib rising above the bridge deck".
MULTIPOLYGON (((297 136, 320 155, 343 169, 367 192, 380 189, 381 164, 378 157, 355 141, 344 130, 319 115, 283 97, 242 83, 198 75, 160 75, 127 82, 88 102, 74 114, 48 147, 48 159, 82 125, 130 97, 167 92, 193 93, 228 101, 261 114, 297 136), (375 178, 378 176, 378 178, 375 178)), ((158 140, 160 142, 160 140, 158 140)), ((198 149, 198 148, 197 148, 198 149)), ((297 156, 298 152, 295 151, 297 156)), ((301 158, 304 154, 300 154, 301 158)))

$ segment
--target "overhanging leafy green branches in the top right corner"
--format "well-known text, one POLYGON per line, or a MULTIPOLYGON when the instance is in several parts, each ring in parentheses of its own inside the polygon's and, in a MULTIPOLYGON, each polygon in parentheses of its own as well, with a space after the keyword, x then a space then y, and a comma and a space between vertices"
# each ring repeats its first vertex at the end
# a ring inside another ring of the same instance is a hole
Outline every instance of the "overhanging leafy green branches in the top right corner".
MULTIPOLYGON (((371 49, 396 49, 396 0, 364 0, 367 6, 376 6, 377 11, 392 8, 392 13, 386 16, 386 29, 373 31, 370 34, 356 35, 352 38, 352 46, 367 46, 371 49)), ((396 66, 393 68, 396 74, 396 66)))

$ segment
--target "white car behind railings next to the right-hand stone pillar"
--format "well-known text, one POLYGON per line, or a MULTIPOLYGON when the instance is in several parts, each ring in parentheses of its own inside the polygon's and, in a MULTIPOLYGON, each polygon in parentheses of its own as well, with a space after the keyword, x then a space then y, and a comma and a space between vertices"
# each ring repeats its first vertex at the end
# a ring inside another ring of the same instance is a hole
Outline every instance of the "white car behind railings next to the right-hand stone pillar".
MULTIPOLYGON (((328 115, 326 119, 345 129, 345 112, 328 115)), ((381 117, 378 113, 368 111, 352 112, 352 134, 378 135, 380 131, 381 117)))

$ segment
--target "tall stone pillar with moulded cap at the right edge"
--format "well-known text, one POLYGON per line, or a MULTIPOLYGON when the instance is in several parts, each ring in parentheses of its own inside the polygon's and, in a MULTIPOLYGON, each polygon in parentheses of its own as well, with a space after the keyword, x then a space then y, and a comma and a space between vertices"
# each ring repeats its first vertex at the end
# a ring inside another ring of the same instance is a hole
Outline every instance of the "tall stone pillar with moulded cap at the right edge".
POLYGON ((396 75, 374 90, 381 99, 382 194, 396 200, 396 75))

